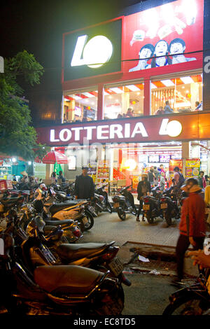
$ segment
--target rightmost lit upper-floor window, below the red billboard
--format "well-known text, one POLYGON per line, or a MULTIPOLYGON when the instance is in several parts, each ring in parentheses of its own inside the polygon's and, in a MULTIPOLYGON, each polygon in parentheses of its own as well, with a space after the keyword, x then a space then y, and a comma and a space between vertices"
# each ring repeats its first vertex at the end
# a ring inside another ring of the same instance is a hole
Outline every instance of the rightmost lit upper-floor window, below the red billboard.
POLYGON ((202 111, 202 74, 151 81, 151 114, 202 111))

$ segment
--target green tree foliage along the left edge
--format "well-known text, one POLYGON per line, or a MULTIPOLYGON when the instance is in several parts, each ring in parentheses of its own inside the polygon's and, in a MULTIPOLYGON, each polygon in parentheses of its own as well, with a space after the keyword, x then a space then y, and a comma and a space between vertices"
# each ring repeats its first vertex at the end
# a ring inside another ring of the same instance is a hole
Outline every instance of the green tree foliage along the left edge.
POLYGON ((5 60, 0 74, 0 152, 33 160, 43 155, 43 145, 36 144, 36 130, 31 125, 31 114, 18 84, 21 76, 30 85, 40 83, 43 67, 26 50, 5 60))

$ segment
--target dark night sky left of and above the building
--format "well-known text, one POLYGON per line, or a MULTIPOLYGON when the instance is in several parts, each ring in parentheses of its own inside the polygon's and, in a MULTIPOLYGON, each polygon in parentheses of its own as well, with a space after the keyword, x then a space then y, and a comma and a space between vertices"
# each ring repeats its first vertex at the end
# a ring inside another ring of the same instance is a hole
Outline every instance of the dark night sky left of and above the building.
POLYGON ((33 108, 40 97, 59 99, 62 34, 110 20, 139 0, 5 0, 1 1, 0 55, 13 57, 27 50, 45 69, 41 84, 23 86, 33 108))

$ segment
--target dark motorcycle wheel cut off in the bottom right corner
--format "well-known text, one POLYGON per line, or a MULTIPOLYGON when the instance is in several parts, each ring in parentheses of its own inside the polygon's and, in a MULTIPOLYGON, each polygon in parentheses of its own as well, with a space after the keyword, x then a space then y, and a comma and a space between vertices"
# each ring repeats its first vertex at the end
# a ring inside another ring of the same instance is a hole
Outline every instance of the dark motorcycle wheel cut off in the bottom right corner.
POLYGON ((202 315, 204 310, 200 308, 201 300, 200 295, 182 297, 176 300, 174 304, 169 304, 162 315, 202 315))

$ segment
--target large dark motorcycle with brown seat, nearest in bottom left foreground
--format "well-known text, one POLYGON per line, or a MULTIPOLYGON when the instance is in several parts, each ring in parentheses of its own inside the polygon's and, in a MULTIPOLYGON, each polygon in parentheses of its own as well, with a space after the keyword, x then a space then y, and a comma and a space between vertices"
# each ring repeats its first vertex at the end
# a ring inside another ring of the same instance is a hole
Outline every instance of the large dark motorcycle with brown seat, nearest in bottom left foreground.
POLYGON ((34 230, 15 248, 11 221, 0 235, 1 313, 14 315, 119 315, 124 293, 118 279, 94 269, 57 265, 43 246, 43 221, 34 218, 34 230))

